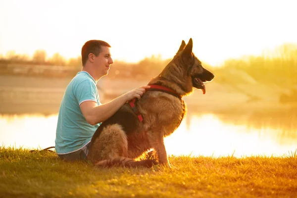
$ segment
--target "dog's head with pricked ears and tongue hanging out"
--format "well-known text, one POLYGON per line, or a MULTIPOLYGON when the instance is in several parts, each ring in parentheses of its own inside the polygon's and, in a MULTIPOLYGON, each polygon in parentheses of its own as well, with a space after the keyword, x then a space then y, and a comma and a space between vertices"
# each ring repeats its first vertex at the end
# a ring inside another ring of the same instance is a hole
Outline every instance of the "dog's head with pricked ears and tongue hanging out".
POLYGON ((214 74, 202 67, 201 61, 194 55, 192 49, 192 38, 187 45, 185 41, 182 41, 175 58, 186 69, 185 77, 192 81, 192 86, 202 90, 205 94, 204 83, 212 81, 214 74))

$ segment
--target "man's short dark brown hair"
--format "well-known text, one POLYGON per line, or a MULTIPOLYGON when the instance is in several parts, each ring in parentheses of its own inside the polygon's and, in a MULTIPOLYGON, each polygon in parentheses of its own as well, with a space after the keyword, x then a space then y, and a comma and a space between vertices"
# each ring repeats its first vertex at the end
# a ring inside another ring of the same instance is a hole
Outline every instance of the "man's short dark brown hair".
POLYGON ((111 47, 105 41, 100 40, 90 40, 87 41, 84 46, 82 47, 82 63, 85 66, 90 53, 94 53, 96 56, 102 51, 101 46, 111 47))

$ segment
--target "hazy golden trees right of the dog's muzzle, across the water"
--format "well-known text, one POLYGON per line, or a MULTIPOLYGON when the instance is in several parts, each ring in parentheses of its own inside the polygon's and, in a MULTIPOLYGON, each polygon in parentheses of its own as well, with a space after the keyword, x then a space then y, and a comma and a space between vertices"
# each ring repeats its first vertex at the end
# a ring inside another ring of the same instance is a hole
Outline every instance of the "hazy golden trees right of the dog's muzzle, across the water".
POLYGON ((260 83, 297 86, 297 45, 284 44, 259 56, 228 59, 217 70, 224 73, 234 69, 246 72, 260 83))

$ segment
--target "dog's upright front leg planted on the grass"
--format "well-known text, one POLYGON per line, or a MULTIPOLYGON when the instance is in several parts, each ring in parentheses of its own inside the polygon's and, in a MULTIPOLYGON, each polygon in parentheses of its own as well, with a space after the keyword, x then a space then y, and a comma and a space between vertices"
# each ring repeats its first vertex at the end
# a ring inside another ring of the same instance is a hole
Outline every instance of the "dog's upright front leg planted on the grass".
POLYGON ((166 148, 164 145, 164 135, 163 134, 164 133, 162 130, 152 131, 152 132, 148 133, 148 138, 149 138, 150 145, 152 146, 152 148, 154 148, 154 150, 157 154, 159 163, 161 165, 165 165, 165 166, 168 166, 169 168, 171 168, 170 163, 168 161, 166 148))

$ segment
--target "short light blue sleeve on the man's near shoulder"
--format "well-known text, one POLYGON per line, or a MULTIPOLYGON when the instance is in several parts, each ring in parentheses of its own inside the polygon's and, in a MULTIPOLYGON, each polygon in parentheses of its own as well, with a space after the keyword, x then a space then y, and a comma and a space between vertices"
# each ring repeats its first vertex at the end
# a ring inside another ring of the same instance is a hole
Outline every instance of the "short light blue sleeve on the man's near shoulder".
POLYGON ((74 95, 79 105, 88 100, 97 102, 97 88, 88 80, 82 81, 76 86, 74 89, 74 95))

